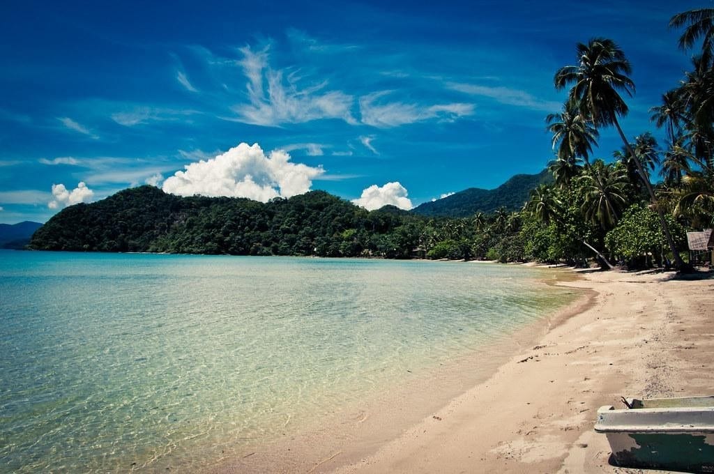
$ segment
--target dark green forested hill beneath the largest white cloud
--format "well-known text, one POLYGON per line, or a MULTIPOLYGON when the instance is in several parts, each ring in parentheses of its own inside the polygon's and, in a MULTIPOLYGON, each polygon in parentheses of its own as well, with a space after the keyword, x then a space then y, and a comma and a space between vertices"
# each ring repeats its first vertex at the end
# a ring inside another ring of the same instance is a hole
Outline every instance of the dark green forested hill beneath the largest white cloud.
POLYGON ((34 234, 39 250, 408 257, 423 218, 368 212, 324 191, 260 203, 179 197, 154 186, 76 204, 34 234))

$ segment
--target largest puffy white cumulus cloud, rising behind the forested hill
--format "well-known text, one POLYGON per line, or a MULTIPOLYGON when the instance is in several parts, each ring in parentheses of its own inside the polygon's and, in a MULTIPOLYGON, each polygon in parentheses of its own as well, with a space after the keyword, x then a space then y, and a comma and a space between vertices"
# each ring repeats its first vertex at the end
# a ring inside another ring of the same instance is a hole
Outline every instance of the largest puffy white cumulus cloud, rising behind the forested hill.
POLYGON ((232 196, 266 202, 310 191, 313 179, 325 171, 291 163, 288 153, 276 150, 266 156, 258 143, 231 148, 208 160, 189 163, 186 171, 166 178, 162 189, 179 196, 232 196))

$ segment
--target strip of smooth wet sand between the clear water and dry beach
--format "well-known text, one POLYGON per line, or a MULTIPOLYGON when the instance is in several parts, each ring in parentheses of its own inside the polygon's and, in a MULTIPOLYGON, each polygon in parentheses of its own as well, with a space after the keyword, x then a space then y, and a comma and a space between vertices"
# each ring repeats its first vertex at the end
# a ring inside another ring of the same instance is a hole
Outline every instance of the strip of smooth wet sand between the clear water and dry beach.
MULTIPOLYGON (((538 278, 544 286, 573 281, 576 273, 558 269, 538 278)), ((373 393, 327 418, 301 426, 285 438, 248 447, 238 458, 219 460, 211 473, 330 472, 338 465, 356 463, 376 452, 378 445, 398 438, 449 400, 488 380, 513 354, 532 347, 550 328, 591 304, 592 292, 577 288, 573 301, 546 316, 443 361, 424 372, 411 370, 403 382, 373 393)))

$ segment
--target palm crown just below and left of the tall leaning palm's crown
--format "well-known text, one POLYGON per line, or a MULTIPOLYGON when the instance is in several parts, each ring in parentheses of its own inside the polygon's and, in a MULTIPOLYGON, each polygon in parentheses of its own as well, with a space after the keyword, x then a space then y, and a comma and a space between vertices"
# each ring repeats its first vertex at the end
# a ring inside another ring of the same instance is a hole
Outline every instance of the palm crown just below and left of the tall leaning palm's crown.
POLYGON ((597 128, 580 114, 578 104, 566 101, 560 114, 548 114, 545 122, 548 123, 546 129, 553 133, 553 149, 560 143, 559 159, 573 161, 579 156, 585 161, 585 166, 590 165, 590 153, 599 134, 597 128))

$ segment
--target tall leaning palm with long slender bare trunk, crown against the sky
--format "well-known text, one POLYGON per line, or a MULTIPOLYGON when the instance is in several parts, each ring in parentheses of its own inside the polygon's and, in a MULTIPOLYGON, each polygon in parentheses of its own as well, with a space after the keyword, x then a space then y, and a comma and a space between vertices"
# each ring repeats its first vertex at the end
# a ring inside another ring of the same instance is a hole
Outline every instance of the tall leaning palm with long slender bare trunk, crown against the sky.
POLYGON ((647 174, 637 154, 631 149, 618 121, 618 116, 628 114, 628 106, 619 92, 632 96, 635 91, 635 83, 628 77, 628 74, 632 73, 630 61, 611 39, 595 38, 588 44, 578 43, 576 51, 578 64, 563 66, 555 73, 555 89, 562 90, 568 84, 572 84, 568 100, 580 104, 581 113, 593 122, 593 126, 597 128, 613 125, 617 128, 625 147, 633 156, 635 165, 643 177, 645 188, 657 209, 662 229, 674 256, 675 266, 679 269, 684 268, 684 262, 674 244, 664 213, 657 206, 657 197, 652 184, 649 179, 645 179, 647 174))

